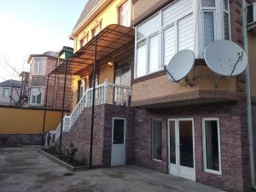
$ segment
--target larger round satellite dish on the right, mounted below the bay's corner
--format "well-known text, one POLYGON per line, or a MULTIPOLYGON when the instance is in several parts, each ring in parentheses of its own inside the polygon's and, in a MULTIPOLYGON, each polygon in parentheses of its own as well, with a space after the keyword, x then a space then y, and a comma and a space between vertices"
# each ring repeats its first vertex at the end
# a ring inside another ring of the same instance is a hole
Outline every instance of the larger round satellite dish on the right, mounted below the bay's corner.
POLYGON ((218 75, 236 76, 247 67, 247 55, 238 44, 221 40, 208 44, 205 49, 207 66, 218 75))

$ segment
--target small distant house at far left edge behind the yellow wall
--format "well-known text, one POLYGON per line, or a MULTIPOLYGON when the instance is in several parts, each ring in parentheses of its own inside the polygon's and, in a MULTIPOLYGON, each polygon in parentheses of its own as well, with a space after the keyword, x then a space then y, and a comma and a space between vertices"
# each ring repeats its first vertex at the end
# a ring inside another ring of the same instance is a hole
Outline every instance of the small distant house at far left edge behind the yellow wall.
POLYGON ((20 99, 21 81, 6 80, 0 83, 0 105, 15 106, 20 99))

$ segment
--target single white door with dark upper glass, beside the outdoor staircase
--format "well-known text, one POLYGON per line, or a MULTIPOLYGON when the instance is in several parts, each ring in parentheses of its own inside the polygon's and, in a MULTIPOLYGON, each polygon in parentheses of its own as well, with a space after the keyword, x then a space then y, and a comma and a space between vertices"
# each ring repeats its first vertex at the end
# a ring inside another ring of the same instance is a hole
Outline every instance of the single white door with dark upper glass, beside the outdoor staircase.
POLYGON ((111 166, 125 165, 125 119, 113 118, 111 166))

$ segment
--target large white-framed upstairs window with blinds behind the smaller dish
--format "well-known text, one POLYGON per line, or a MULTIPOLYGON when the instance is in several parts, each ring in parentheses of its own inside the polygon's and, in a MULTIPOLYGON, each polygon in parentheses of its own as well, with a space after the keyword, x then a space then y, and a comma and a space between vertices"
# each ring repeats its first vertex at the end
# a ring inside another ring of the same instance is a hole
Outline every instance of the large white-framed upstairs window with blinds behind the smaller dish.
POLYGON ((194 49, 193 1, 180 0, 136 27, 136 78, 168 65, 182 49, 194 49))

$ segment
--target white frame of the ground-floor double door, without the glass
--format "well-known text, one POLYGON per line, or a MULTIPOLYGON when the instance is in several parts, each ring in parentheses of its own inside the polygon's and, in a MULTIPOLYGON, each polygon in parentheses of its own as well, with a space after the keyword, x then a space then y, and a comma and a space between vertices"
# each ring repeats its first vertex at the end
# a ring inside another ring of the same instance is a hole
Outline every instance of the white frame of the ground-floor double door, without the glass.
MULTIPOLYGON (((167 137, 168 137, 168 141, 167 141, 167 144, 168 144, 168 172, 169 174, 173 174, 171 172, 171 158, 170 158, 170 121, 174 121, 175 122, 175 150, 176 150, 176 165, 177 165, 177 174, 174 174, 176 175, 177 177, 181 177, 180 176, 180 173, 179 173, 179 167, 180 167, 180 148, 179 148, 179 121, 192 121, 192 141, 193 141, 193 166, 194 168, 191 168, 191 169, 194 169, 194 172, 195 172, 195 124, 194 124, 194 118, 170 118, 170 119, 167 119, 167 137)), ((185 166, 182 166, 182 167, 185 167, 185 166)), ((196 174, 196 173, 195 173, 196 174)), ((187 177, 188 178, 188 177, 187 177)), ((195 177, 190 177, 189 179, 191 180, 194 180, 195 181, 195 177)))

